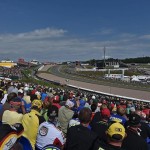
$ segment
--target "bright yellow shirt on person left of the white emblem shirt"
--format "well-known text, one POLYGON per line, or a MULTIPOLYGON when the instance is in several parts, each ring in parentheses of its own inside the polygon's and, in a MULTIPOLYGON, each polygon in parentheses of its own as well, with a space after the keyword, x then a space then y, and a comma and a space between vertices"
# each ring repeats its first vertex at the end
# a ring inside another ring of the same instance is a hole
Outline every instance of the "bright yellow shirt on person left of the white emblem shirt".
POLYGON ((40 113, 32 109, 31 112, 25 114, 22 119, 22 125, 24 127, 23 136, 30 141, 33 150, 35 149, 36 137, 39 127, 39 118, 37 115, 40 116, 40 113))

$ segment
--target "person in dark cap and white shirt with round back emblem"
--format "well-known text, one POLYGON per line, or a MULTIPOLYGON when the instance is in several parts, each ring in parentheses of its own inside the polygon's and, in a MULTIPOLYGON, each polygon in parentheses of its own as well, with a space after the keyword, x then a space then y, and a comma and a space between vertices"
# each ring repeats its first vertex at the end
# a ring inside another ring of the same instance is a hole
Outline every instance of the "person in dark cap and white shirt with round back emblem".
POLYGON ((51 106, 47 113, 49 119, 43 122, 38 129, 36 147, 42 149, 46 145, 54 145, 61 149, 64 147, 65 139, 63 133, 56 127, 56 117, 58 116, 58 108, 51 106))

